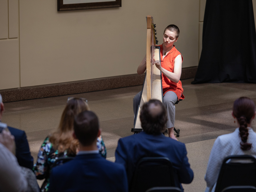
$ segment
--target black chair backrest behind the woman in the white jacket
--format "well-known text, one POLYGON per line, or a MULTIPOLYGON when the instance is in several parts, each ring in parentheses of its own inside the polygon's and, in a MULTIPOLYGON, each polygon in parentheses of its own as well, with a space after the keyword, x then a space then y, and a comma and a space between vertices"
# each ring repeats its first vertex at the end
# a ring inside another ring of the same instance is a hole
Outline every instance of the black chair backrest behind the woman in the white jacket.
POLYGON ((256 187, 256 159, 253 156, 228 156, 224 159, 215 192, 229 186, 256 187))

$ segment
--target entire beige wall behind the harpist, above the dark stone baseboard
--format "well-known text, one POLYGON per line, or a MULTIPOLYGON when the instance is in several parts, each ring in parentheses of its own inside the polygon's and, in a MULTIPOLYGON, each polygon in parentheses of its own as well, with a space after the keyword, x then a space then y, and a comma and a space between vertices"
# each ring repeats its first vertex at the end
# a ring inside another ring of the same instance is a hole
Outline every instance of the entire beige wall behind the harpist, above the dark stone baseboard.
POLYGON ((1 0, 0 90, 136 73, 149 14, 160 44, 167 25, 180 28, 182 67, 197 66, 204 6, 205 0, 122 0, 120 8, 57 12, 57 0, 1 0))

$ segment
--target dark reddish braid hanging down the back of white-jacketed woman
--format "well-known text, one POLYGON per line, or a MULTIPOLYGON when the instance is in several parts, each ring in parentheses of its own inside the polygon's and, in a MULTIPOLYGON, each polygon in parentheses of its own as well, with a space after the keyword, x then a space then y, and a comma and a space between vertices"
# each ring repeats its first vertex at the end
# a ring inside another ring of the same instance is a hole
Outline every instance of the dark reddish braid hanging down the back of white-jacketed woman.
POLYGON ((248 150, 251 149, 252 147, 252 143, 247 143, 247 138, 248 138, 248 129, 247 129, 247 123, 250 123, 250 121, 248 122, 245 116, 241 116, 240 118, 237 119, 239 122, 239 131, 240 131, 240 137, 242 142, 240 143, 241 145, 241 149, 242 150, 248 150))

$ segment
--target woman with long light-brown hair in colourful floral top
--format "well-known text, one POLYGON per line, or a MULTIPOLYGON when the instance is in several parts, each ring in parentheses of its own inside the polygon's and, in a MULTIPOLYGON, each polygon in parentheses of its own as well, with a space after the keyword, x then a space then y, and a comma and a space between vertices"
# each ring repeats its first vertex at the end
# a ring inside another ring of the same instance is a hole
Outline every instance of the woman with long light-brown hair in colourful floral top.
MULTIPOLYGON (((75 157, 79 141, 73 137, 74 117, 82 111, 89 110, 84 98, 68 98, 68 103, 62 113, 59 127, 44 140, 34 165, 37 179, 45 179, 41 191, 48 191, 50 172, 56 159, 60 157, 75 157)), ((97 147, 100 155, 106 158, 105 144, 99 136, 97 147)))

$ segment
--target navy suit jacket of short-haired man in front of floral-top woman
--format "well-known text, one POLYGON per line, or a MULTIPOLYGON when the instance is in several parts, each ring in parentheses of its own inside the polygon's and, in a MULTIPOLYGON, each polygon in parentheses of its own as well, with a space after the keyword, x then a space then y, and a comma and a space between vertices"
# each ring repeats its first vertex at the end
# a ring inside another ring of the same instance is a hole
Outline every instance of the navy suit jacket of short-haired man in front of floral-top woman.
POLYGON ((107 161, 100 154, 77 155, 52 169, 49 191, 127 192, 127 176, 123 165, 107 161))

